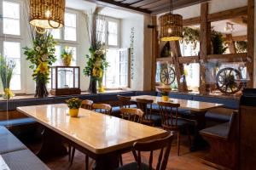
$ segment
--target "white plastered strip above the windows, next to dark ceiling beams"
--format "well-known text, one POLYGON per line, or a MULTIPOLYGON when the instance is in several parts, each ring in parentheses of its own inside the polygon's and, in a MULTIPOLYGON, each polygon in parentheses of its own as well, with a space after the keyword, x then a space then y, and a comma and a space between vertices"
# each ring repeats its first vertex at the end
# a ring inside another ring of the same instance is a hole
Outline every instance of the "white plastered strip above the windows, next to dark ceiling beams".
MULTIPOLYGON (((66 0, 66 7, 87 11, 87 10, 94 10, 96 8, 96 3, 90 3, 84 0, 66 0)), ((101 11, 101 14, 109 17, 113 17, 113 18, 119 18, 119 19, 125 19, 125 18, 134 17, 138 15, 136 12, 130 12, 128 10, 122 10, 119 8, 110 8, 110 7, 104 7, 101 11)))

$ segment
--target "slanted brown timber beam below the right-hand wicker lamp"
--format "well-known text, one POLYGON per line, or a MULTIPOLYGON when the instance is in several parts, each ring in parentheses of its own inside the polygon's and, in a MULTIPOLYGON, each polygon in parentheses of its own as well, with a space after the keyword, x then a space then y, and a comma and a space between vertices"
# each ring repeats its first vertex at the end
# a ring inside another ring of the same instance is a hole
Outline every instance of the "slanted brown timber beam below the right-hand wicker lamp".
POLYGON ((170 42, 170 47, 172 49, 172 60, 175 67, 176 77, 177 77, 177 88, 179 92, 187 92, 187 82, 180 82, 181 77, 184 75, 183 64, 179 63, 179 57, 182 56, 180 51, 179 42, 170 42))

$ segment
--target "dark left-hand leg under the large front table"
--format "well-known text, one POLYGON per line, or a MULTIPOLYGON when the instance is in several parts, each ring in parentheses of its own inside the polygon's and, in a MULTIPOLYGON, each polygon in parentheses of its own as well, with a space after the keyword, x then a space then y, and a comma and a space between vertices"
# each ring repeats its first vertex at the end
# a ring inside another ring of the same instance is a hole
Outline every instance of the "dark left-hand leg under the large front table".
POLYGON ((67 148, 62 142, 61 135, 44 127, 43 144, 41 145, 37 156, 41 160, 47 160, 52 157, 64 155, 67 155, 67 148))

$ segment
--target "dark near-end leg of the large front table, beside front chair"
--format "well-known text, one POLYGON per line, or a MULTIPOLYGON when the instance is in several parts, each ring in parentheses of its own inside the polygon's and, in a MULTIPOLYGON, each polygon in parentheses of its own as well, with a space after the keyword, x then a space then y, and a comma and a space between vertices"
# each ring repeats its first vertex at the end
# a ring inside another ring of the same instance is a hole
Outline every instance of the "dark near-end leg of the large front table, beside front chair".
POLYGON ((119 154, 112 152, 96 157, 96 163, 94 164, 94 170, 113 170, 119 167, 119 154))

